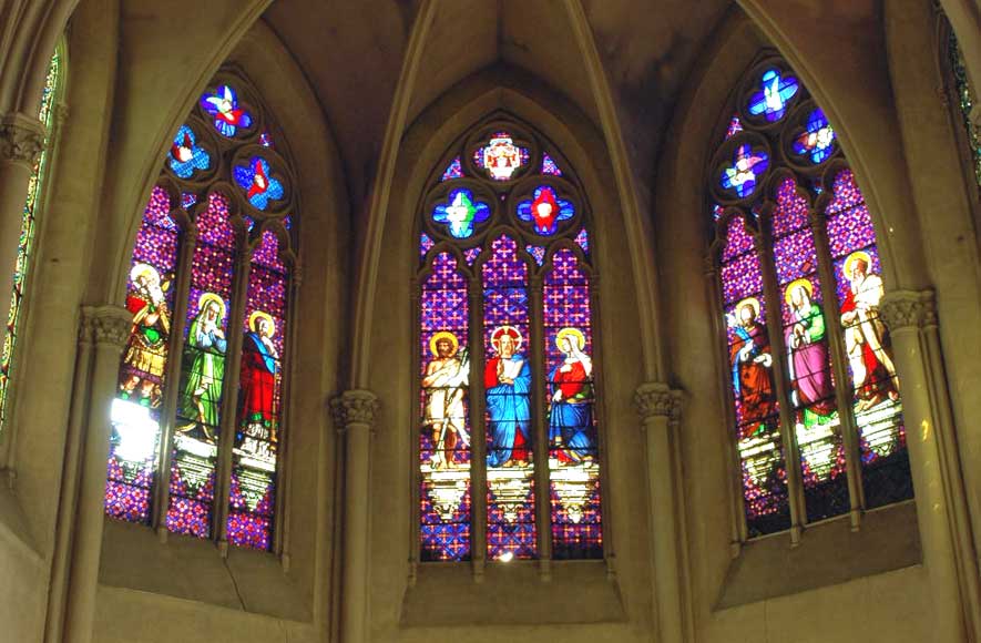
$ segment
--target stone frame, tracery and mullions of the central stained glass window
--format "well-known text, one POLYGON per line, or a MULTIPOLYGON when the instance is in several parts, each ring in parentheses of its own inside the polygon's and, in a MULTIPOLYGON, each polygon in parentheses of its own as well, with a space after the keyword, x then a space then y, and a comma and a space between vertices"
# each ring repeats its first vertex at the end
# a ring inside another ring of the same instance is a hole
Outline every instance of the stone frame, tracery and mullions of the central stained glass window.
MULTIPOLYGON (((549 427, 546 409, 546 388, 550 386, 548 357, 545 355, 545 325, 543 320, 543 288, 546 275, 554 268, 554 257, 559 252, 566 251, 575 259, 578 268, 589 280, 589 310, 591 329, 600 327, 599 310, 599 272, 595 267, 594 253, 590 251, 593 242, 594 226, 592 212, 582 183, 575 176, 571 164, 544 136, 539 134, 531 125, 523 123, 510 114, 494 114, 480 123, 468 129, 467 133, 459 136, 456 142, 441 157, 440 163, 433 167, 428 178, 427 188, 423 191, 416 208, 413 223, 413 242, 422 246, 421 256, 417 264, 417 272, 411 280, 413 341, 412 361, 415 366, 413 397, 419 400, 412 405, 411 425, 412 440, 412 552, 415 563, 427 560, 423 554, 423 533, 421 522, 421 496, 423 476, 420 470, 421 439, 420 427, 423 425, 426 391, 421 385, 426 360, 420 350, 423 340, 422 307, 421 299, 423 286, 433 271, 433 261, 442 253, 449 254, 456 262, 457 272, 462 276, 467 287, 469 306, 467 335, 468 349, 471 355, 469 369, 469 406, 468 420, 471 431, 471 453, 469 467, 469 491, 471 502, 469 504, 469 553, 456 559, 428 559, 452 562, 453 560, 469 560, 473 563, 476 573, 481 573, 483 563, 493 559, 488 551, 488 496, 487 493, 472 493, 474 489, 487 489, 488 466, 487 462, 487 418, 486 418, 486 390, 483 385, 486 353, 486 334, 489 326, 484 317, 484 284, 483 267, 491 258, 492 244, 502 236, 513 239, 517 245, 517 261, 527 267, 524 288, 528 293, 528 326, 529 337, 525 346, 527 355, 531 361, 531 422, 530 435, 532 436, 532 460, 534 469, 532 473, 532 496, 534 506, 534 552, 525 555, 515 555, 515 559, 527 558, 540 561, 561 560, 562 558, 607 558, 611 555, 611 527, 609 519, 609 501, 604 501, 602 491, 597 494, 596 513, 602 513, 599 522, 601 529, 601 542, 599 549, 592 555, 569 557, 556 553, 553 547, 553 524, 551 502, 537 501, 541 498, 551 497, 551 467, 548 466, 550 451, 549 427), (494 137, 497 132, 507 132, 513 139, 514 145, 524 154, 523 165, 508 180, 494 180, 476 161, 476 152, 494 137), (519 221, 517 207, 519 202, 528 201, 534 191, 534 186, 549 185, 555 188, 562 200, 573 204, 575 215, 569 223, 558 222, 556 232, 551 235, 538 234, 532 224, 519 221), (432 221, 431 213, 438 203, 447 203, 452 190, 466 187, 474 195, 474 201, 483 201, 490 205, 489 216, 482 225, 476 226, 474 232, 464 238, 452 238, 447 232, 441 232, 432 221), (525 227, 525 225, 528 227, 525 227), (421 239, 421 241, 420 241, 421 239), (533 248, 532 246, 537 246, 533 248), (533 254, 534 253, 534 254, 533 254), (544 463, 540 466, 539 463, 544 463)), ((416 247, 419 253, 419 246, 416 247)), ((423 347, 425 348, 425 347, 423 347)), ((592 414, 593 427, 603 426, 603 394, 602 394, 602 356, 600 341, 591 337, 591 358, 593 375, 592 414)), ((609 490, 607 471, 604 453, 605 431, 600 428, 595 433, 596 462, 599 473, 596 483, 599 490, 609 490)), ((599 517, 597 517, 599 520, 599 517)), ((510 557, 500 560, 511 560, 510 557)))

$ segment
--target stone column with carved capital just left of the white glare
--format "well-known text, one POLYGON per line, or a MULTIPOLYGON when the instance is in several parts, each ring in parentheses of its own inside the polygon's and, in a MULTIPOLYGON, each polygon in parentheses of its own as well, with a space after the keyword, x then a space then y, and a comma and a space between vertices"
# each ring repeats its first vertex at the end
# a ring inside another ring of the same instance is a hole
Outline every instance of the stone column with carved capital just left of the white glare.
POLYGON ((95 351, 89 388, 89 417, 82 438, 81 478, 64 624, 64 641, 69 643, 92 641, 102 552, 110 407, 116 392, 120 354, 130 336, 133 320, 132 314, 120 306, 86 306, 82 314, 91 320, 95 351))

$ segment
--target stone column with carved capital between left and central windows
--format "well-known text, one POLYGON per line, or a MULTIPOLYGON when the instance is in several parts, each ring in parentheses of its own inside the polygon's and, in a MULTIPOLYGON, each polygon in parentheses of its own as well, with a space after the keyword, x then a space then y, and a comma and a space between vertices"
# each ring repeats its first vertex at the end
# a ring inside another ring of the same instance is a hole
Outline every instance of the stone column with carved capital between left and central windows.
POLYGON ((340 640, 368 640, 368 550, 370 543, 370 452, 378 398, 369 390, 348 390, 330 402, 334 426, 345 435, 344 562, 340 640))

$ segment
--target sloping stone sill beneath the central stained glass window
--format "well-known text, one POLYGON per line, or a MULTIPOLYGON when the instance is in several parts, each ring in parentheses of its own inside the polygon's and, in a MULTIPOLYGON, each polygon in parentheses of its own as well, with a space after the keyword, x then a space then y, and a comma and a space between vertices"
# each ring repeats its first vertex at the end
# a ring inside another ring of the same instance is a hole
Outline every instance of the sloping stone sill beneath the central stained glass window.
POLYGON ((543 580, 535 561, 489 563, 474 582, 470 563, 420 563, 402 601, 402 627, 541 625, 626 621, 605 561, 552 561, 543 580))

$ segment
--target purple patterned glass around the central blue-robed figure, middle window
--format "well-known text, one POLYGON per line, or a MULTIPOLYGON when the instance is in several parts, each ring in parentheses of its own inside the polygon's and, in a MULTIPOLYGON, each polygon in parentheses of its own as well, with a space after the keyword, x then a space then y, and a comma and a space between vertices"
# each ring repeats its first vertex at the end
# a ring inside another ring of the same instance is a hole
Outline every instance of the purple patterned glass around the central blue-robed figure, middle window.
MULTIPOLYGON (((513 239, 501 236, 491 244, 491 257, 482 267, 483 277, 483 341, 486 360, 495 356, 491 345, 491 335, 502 325, 514 326, 523 338, 518 354, 528 359, 529 351, 529 310, 528 310, 528 266, 518 258, 518 245, 513 239)), ((487 426, 489 427, 489 420, 487 426)), ((525 477, 522 484, 528 492, 517 519, 508 522, 504 508, 491 491, 490 478, 495 468, 488 467, 488 555, 492 560, 504 553, 513 553, 514 558, 528 559, 537 554, 534 524, 534 491, 532 476, 534 465, 531 462, 531 435, 529 431, 529 462, 509 469, 520 470, 525 477)), ((490 430, 488 430, 488 448, 490 430)))

